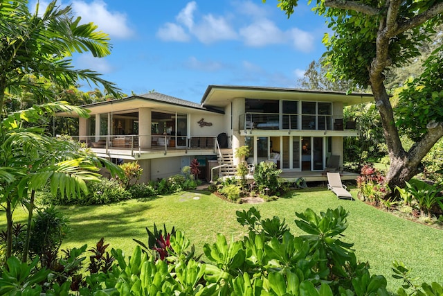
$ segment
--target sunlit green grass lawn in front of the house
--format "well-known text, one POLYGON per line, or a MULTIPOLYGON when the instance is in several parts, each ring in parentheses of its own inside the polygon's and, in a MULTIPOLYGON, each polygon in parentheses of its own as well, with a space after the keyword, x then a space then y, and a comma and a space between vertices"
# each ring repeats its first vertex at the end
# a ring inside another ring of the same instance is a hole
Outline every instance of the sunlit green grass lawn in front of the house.
MULTIPOLYGON (((356 189, 352 189, 356 195, 356 189)), ((413 269, 413 277, 422 281, 443 283, 443 231, 393 216, 370 207, 359 200, 338 200, 324 187, 294 191, 290 198, 280 198, 262 204, 234 204, 226 202, 206 191, 177 193, 157 200, 141 202, 130 200, 118 204, 93 207, 61 207, 70 218, 72 228, 63 248, 89 247, 102 237, 111 247, 131 254, 136 243, 132 238, 147 241, 145 227, 154 223, 168 229, 175 226, 185 232, 197 252, 204 243, 214 243, 217 233, 228 238, 241 238, 244 229, 237 223, 235 211, 255 206, 262 218, 284 218, 294 234, 303 234, 293 223, 296 211, 307 207, 314 211, 335 209, 338 205, 350 211, 349 227, 343 241, 354 243, 357 259, 369 261, 372 274, 384 275, 389 290, 397 290, 401 281, 392 279, 391 262, 404 261, 413 269), (195 200, 195 197, 199 197, 195 200)), ((16 220, 25 220, 26 214, 17 210, 16 220)), ((5 229, 4 213, 0 214, 0 229, 5 229)))

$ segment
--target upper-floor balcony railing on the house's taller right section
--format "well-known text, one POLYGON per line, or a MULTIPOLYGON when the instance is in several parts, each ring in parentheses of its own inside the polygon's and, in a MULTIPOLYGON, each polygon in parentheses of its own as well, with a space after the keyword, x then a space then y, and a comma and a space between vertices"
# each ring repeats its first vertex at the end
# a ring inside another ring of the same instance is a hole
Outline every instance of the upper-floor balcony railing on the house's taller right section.
POLYGON ((273 114, 248 112, 239 116, 239 130, 355 130, 355 121, 343 124, 343 116, 321 114, 273 114))

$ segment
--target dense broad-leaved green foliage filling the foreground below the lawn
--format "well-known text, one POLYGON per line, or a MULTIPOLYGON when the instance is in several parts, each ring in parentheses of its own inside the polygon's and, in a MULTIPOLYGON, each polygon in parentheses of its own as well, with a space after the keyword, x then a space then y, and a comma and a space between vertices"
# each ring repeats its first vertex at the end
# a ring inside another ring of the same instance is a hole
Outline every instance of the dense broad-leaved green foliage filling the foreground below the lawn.
POLYGON ((439 295, 440 284, 415 284, 401 262, 394 277, 403 281, 397 294, 388 293, 386 279, 371 275, 369 263, 359 263, 352 243, 343 241, 348 212, 307 209, 294 221, 306 235, 293 236, 278 217, 262 219, 255 208, 237 211, 250 230, 244 238, 204 245, 210 262, 195 256, 183 232, 148 230, 148 243, 129 258, 121 250, 107 251, 100 240, 67 250, 57 264, 44 268, 37 260, 8 259, 0 272, 0 294, 21 295, 439 295), (142 249, 143 247, 143 249, 142 249), (57 271, 55 271, 57 268, 57 271))

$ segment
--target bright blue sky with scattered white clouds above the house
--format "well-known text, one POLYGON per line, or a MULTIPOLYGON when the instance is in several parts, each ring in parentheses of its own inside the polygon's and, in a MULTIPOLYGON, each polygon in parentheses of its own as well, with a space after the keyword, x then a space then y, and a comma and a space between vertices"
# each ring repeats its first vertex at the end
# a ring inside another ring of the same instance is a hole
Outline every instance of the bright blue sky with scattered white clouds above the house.
POLYGON ((128 95, 154 90, 199 103, 208 85, 298 87, 325 52, 328 31, 325 19, 299 2, 289 19, 276 0, 58 3, 111 38, 111 55, 75 55, 75 68, 102 73, 128 95))

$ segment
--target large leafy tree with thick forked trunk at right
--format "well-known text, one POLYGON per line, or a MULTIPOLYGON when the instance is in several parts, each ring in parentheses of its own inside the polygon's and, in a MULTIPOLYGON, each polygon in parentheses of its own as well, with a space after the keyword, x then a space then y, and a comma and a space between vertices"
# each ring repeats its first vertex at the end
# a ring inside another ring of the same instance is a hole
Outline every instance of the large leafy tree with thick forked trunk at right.
MULTIPOLYGON (((419 163, 443 136, 441 49, 426 60, 422 76, 408 87, 401 123, 395 117, 386 91, 389 69, 401 69, 422 55, 422 45, 431 44, 442 24, 440 1, 314 1, 314 12, 327 18, 332 34, 323 38, 327 51, 323 55, 327 74, 334 80, 352 81, 365 89, 370 87, 380 113, 383 136, 389 151, 390 166, 386 183, 390 192, 395 186, 419 173, 419 163), (408 21, 405 21, 407 19, 408 21), (410 110, 408 108, 410 107, 410 110), (406 123, 408 121, 409 123, 406 123), (399 137, 399 126, 413 128, 416 143, 405 150, 399 137)), ((279 0, 290 17, 298 0, 279 0)))

